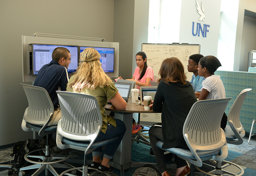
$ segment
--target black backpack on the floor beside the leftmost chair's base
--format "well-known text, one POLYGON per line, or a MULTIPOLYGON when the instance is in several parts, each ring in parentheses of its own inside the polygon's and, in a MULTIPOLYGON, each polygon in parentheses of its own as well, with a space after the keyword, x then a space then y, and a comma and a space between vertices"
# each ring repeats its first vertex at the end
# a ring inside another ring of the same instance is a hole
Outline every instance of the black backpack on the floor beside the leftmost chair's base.
MULTIPOLYGON (((39 146, 38 139, 28 139, 27 141, 19 141, 13 146, 13 152, 10 154, 11 157, 14 156, 14 162, 16 164, 15 168, 19 169, 24 166, 31 165, 32 163, 28 163, 24 156, 26 153, 31 152, 33 150, 41 149, 39 146)), ((33 155, 43 155, 42 151, 33 152, 33 155)), ((32 159, 31 159, 32 160, 32 159)), ((35 161, 38 160, 35 158, 35 161)))

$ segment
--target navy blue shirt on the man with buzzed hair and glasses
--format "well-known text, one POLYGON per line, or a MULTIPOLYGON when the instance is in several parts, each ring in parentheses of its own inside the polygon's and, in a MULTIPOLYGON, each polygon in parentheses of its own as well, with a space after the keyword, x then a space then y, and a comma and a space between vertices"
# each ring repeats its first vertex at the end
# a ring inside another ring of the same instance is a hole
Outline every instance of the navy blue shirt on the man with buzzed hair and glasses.
POLYGON ((42 66, 39 70, 34 86, 42 87, 47 90, 51 97, 54 109, 59 105, 59 100, 56 91, 61 89, 65 91, 67 88, 69 75, 66 68, 61 66, 57 61, 52 60, 49 64, 42 66))

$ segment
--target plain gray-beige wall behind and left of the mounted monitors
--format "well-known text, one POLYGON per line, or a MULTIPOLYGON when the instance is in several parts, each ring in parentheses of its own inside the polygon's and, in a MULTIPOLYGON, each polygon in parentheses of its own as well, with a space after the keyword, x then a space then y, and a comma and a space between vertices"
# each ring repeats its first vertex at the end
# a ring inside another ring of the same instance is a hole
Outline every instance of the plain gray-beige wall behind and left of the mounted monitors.
POLYGON ((32 138, 21 121, 27 108, 21 36, 34 33, 104 38, 113 42, 114 0, 0 0, 0 146, 32 138))

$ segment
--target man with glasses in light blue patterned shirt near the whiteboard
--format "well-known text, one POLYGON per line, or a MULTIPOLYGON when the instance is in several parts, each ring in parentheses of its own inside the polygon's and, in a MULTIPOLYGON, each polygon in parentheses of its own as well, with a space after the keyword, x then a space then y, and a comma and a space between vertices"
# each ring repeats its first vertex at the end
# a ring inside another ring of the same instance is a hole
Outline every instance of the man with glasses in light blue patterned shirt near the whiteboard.
POLYGON ((205 80, 204 77, 198 75, 198 63, 200 59, 204 57, 201 54, 193 54, 188 59, 188 72, 193 72, 192 79, 190 83, 193 86, 195 95, 197 98, 199 98, 199 95, 201 93, 201 89, 203 88, 202 82, 205 80))

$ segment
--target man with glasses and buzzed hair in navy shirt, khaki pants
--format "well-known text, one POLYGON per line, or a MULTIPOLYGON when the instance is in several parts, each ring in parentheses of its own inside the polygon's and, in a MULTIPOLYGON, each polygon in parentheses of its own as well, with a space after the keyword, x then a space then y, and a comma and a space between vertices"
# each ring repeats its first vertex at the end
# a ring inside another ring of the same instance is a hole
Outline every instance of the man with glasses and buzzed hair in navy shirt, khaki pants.
MULTIPOLYGON (((54 114, 49 126, 57 125, 61 119, 61 110, 59 108, 59 100, 56 91, 66 91, 69 80, 68 66, 71 63, 71 55, 67 48, 58 47, 52 52, 52 61, 49 64, 42 66, 39 70, 34 86, 42 87, 47 90, 54 106, 54 114)), ((51 138, 49 140, 50 147, 53 147, 56 142, 51 138)), ((46 144, 46 136, 40 142, 40 146, 46 144)), ((57 146, 56 146, 57 147, 57 146)), ((55 147, 55 148, 56 148, 55 147)), ((54 152, 54 151, 53 151, 54 152)), ((63 152, 59 149, 58 153, 63 152)), ((56 152, 54 152, 56 153, 56 152)), ((63 153, 64 154, 64 153, 63 153)))

